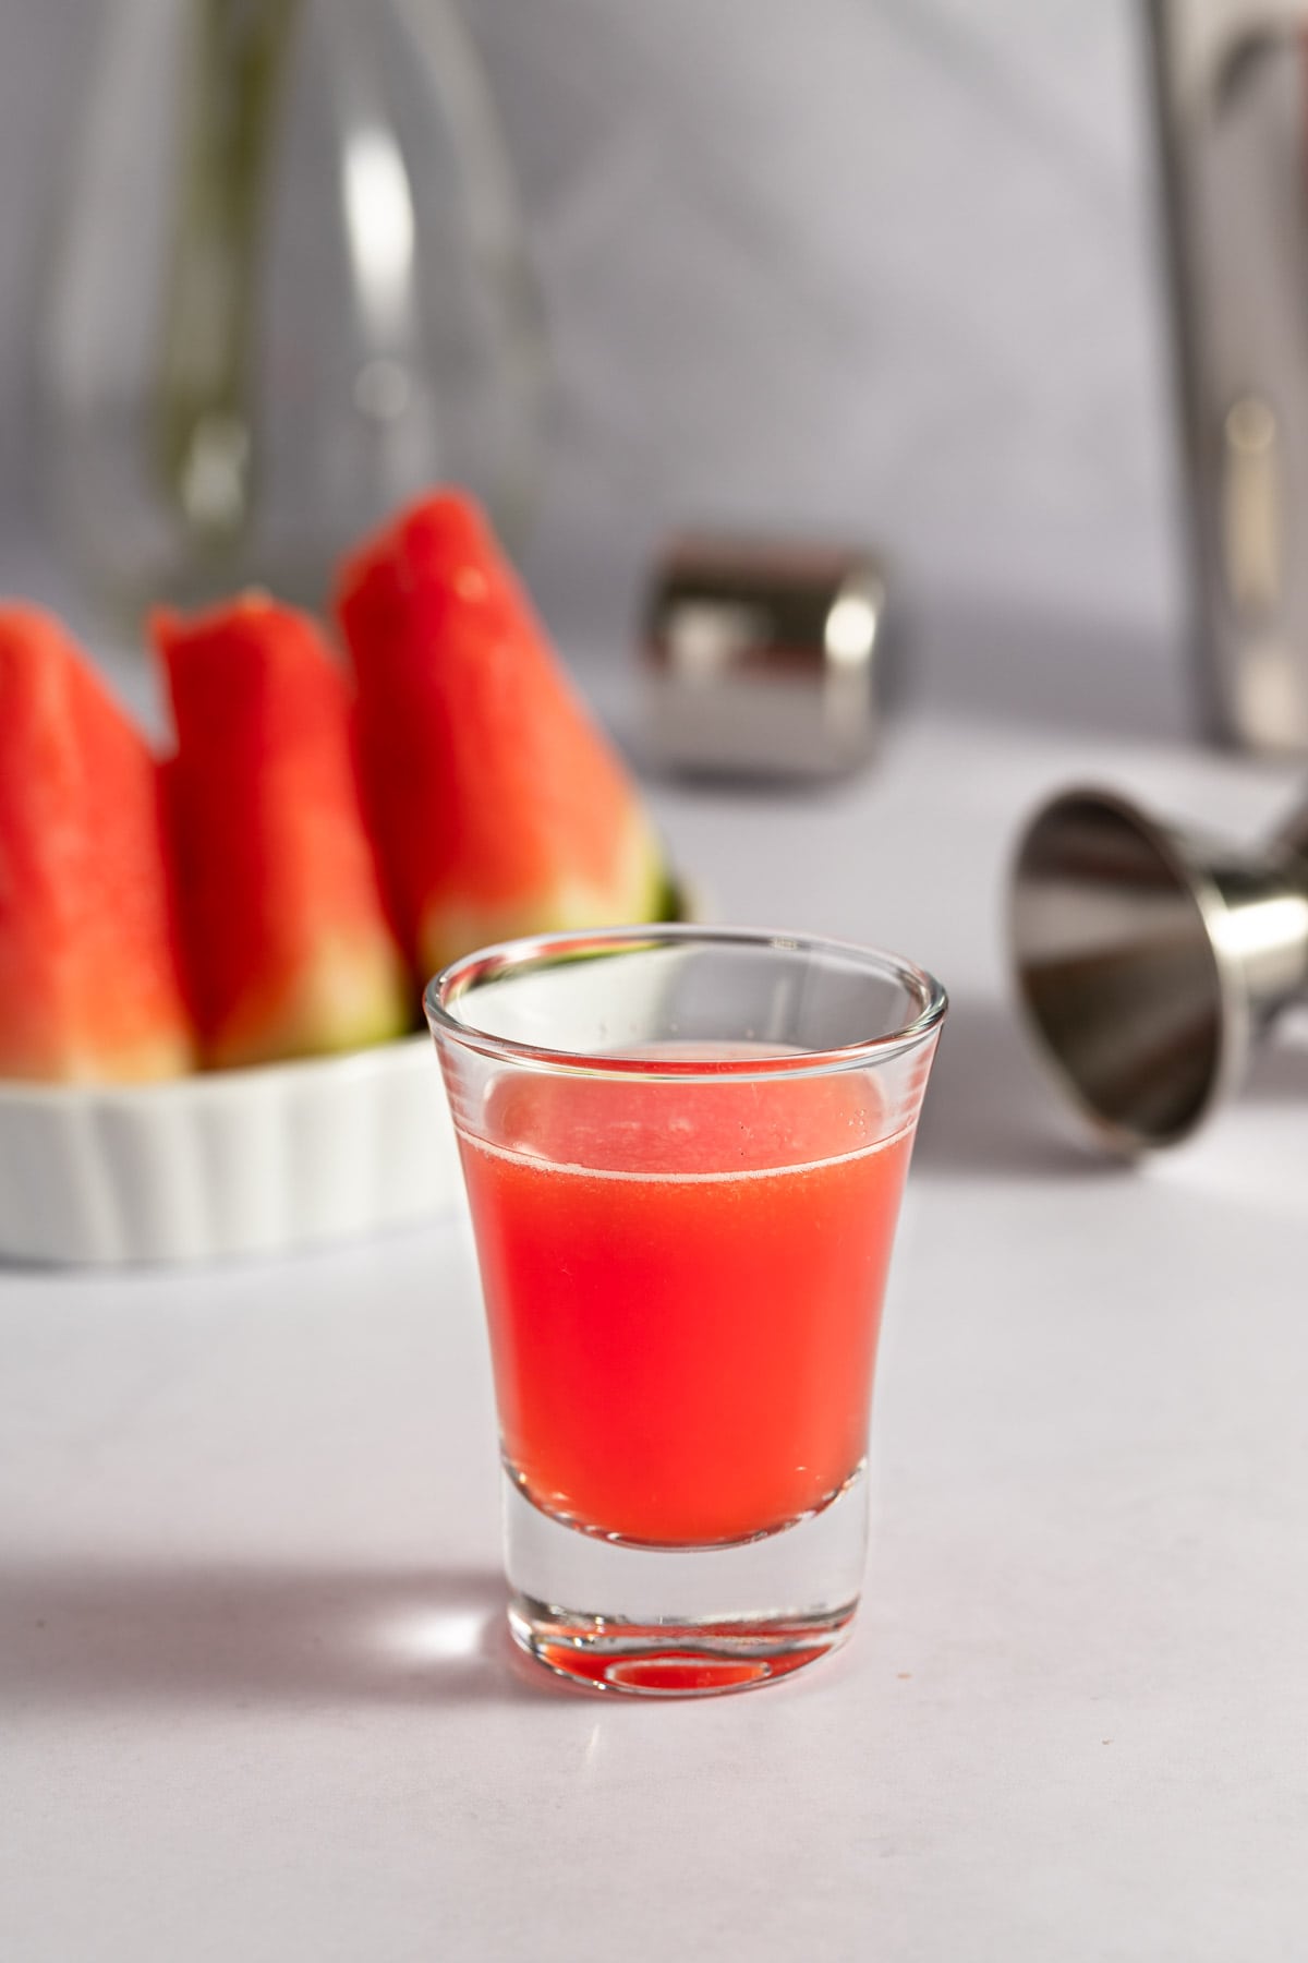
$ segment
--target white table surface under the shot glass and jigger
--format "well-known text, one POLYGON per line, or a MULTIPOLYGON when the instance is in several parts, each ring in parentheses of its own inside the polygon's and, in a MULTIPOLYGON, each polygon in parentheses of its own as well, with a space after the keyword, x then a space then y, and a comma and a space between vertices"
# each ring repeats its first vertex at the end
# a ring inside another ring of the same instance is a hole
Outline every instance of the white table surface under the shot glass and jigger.
POLYGON ((0 1274, 6 1959, 1306 1953, 1308 1050, 1104 1170, 998 927, 1045 789, 1255 828, 1292 773, 1096 701, 1081 732, 1024 685, 922 713, 824 797, 653 793, 724 917, 953 991, 863 1612, 800 1678, 651 1706, 514 1657, 461 1221, 0 1274))

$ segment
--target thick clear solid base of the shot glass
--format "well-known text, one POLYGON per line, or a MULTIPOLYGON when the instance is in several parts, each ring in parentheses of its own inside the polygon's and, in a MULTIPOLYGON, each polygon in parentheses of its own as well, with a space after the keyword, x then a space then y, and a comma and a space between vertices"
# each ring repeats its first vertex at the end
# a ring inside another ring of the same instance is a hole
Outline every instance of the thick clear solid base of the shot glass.
POLYGON ((867 1476, 757 1541, 633 1547, 543 1513, 504 1474, 514 1639, 559 1676, 633 1696, 751 1690, 849 1633, 867 1549, 867 1476))

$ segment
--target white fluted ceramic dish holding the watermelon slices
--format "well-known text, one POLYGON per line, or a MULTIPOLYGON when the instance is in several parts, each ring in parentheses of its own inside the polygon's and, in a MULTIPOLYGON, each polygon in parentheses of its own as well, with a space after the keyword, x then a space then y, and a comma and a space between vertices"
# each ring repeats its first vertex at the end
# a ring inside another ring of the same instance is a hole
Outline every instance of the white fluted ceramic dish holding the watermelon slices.
POLYGON ((0 1254, 271 1254, 433 1219, 463 1194, 428 1035, 141 1086, 0 1084, 0 1254))

